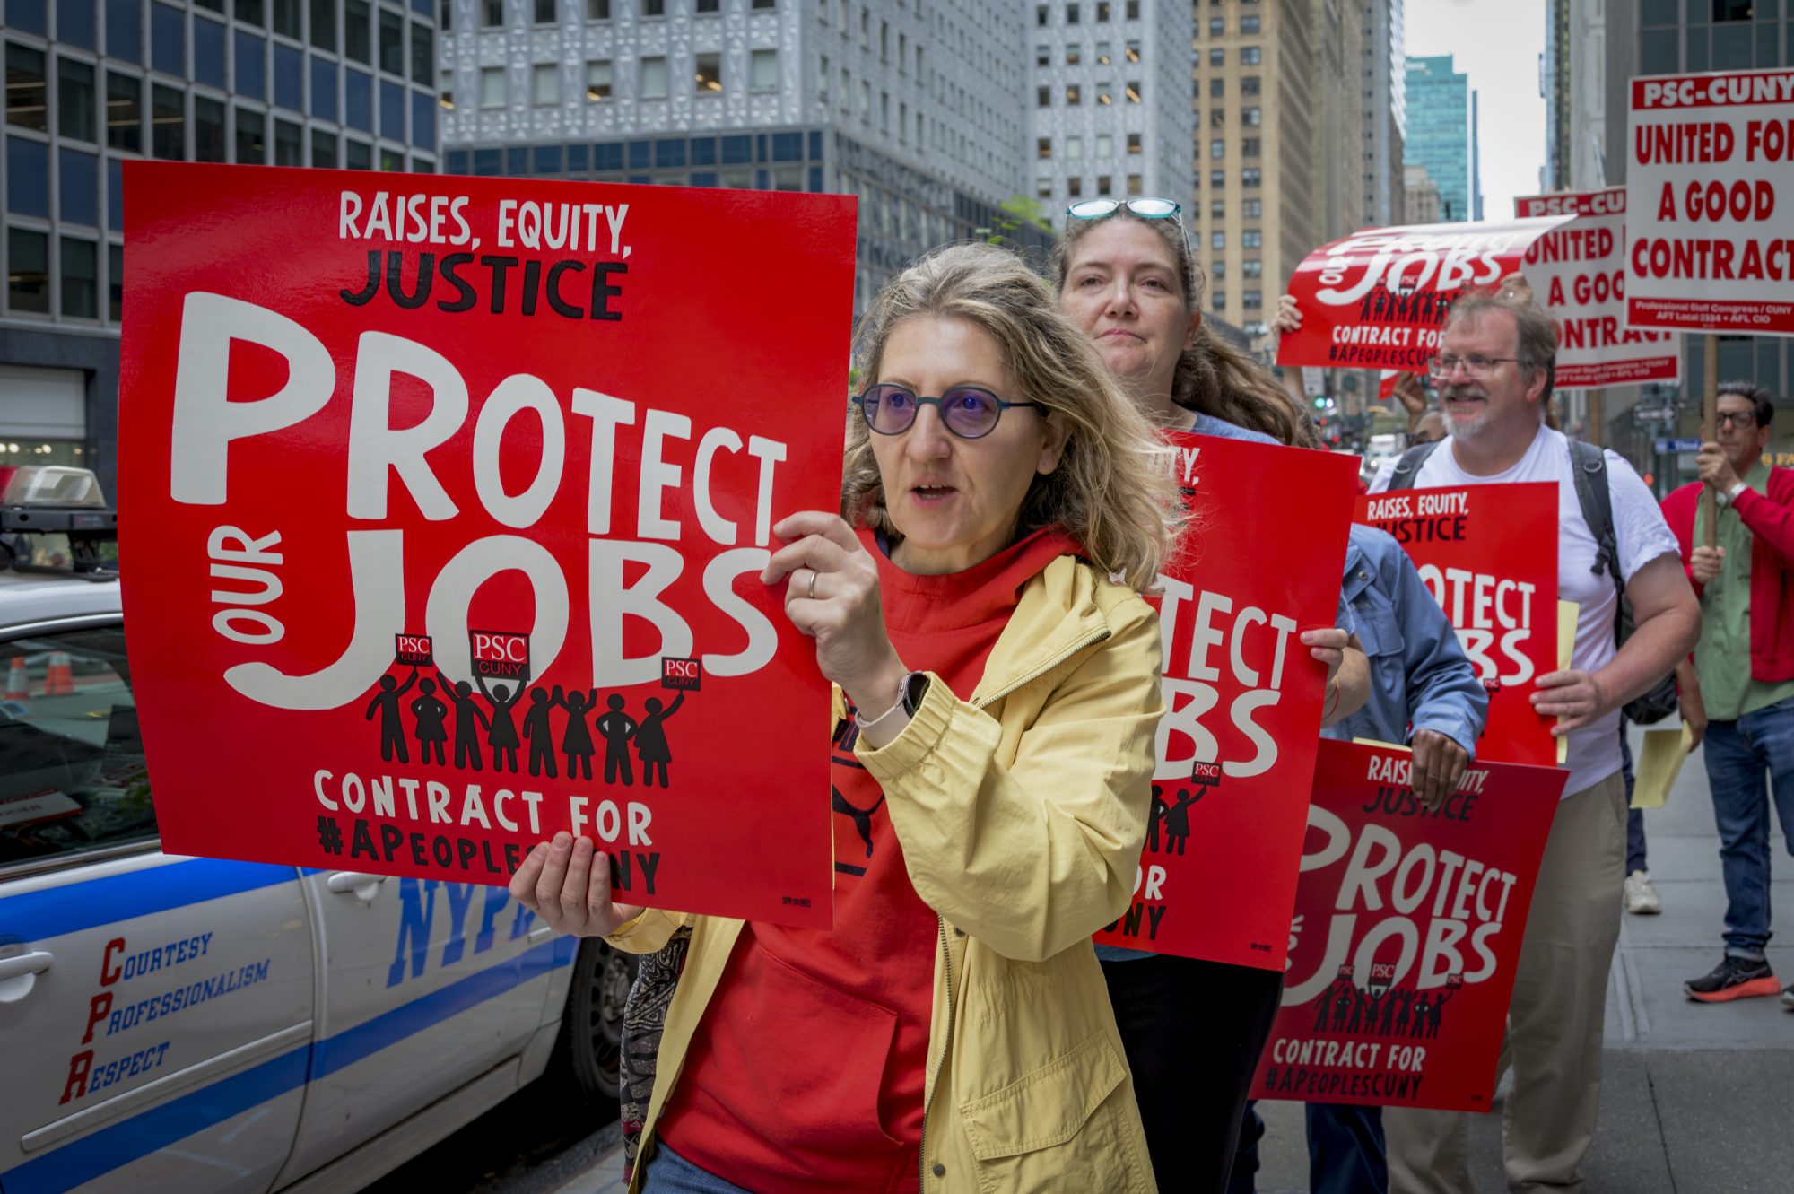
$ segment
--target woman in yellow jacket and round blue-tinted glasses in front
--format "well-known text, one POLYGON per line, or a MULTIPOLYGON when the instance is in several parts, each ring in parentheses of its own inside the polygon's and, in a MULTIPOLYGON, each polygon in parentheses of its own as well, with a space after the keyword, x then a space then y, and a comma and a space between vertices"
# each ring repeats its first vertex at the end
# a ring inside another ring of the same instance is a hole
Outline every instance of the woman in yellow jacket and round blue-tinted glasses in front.
POLYGON ((838 685, 834 929, 612 904, 565 834, 511 893, 633 952, 692 929, 631 1189, 1150 1192, 1089 938, 1146 832, 1173 480, 1003 249, 897 276, 856 360, 841 509, 762 574, 838 685))

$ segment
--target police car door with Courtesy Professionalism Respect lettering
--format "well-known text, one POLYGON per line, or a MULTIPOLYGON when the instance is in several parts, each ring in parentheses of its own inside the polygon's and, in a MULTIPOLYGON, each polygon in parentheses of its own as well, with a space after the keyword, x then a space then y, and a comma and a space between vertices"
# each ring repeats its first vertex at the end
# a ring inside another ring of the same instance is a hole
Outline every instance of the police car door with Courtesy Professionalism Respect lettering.
POLYGON ((312 1036, 294 868, 156 848, 113 619, 0 638, 0 1190, 266 1190, 312 1036))

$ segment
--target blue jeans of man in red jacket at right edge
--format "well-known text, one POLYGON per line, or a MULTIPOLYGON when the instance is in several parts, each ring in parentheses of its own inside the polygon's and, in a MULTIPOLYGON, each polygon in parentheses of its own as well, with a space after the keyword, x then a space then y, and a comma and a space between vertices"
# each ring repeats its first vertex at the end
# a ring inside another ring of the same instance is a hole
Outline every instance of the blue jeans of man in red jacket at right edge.
POLYGON ((1726 877, 1726 954, 1760 959, 1769 943, 1769 785, 1781 832, 1794 826, 1794 699, 1708 722, 1704 746, 1726 877))

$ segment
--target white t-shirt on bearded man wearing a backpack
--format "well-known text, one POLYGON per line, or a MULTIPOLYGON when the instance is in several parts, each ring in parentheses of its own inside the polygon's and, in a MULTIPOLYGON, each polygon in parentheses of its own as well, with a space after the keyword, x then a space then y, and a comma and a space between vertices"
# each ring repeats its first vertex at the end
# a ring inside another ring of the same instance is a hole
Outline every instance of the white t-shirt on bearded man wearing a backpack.
MULTIPOLYGON (((1677 556, 1676 536, 1663 522, 1663 511, 1650 497, 1650 489, 1638 479, 1633 466, 1613 452, 1607 457, 1607 493, 1613 497, 1613 536, 1620 545, 1620 574, 1627 583, 1642 567, 1658 556, 1677 556)), ((1589 534, 1582 520, 1582 504, 1575 497, 1575 475, 1570 472, 1570 446, 1563 432, 1539 425, 1539 434, 1520 457, 1520 463, 1503 473, 1491 477, 1473 477, 1459 468, 1446 439, 1414 480, 1415 489, 1437 486, 1493 486, 1520 480, 1557 482, 1557 597, 1573 601, 1579 606, 1575 624, 1575 651, 1570 665, 1586 672, 1606 667, 1615 656, 1613 620, 1620 611, 1620 599, 1613 588, 1613 575, 1602 568, 1591 572, 1595 565, 1595 536, 1589 534)), ((1396 463, 1387 461, 1371 482, 1372 493, 1389 488, 1396 473, 1396 463)), ((1581 792, 1620 769, 1620 714, 1615 710, 1581 730, 1570 733, 1568 751, 1570 780, 1564 783, 1564 796, 1581 792)))

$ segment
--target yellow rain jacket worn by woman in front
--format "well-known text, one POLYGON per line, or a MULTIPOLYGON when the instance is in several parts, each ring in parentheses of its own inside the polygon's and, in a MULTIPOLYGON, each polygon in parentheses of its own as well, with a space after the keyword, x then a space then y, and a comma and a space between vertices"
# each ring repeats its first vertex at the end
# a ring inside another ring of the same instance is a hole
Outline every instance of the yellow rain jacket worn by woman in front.
MULTIPOLYGON (((1028 583, 971 701, 935 681, 895 740, 858 749, 940 916, 924 1194, 1155 1189, 1091 934, 1132 898, 1159 662, 1152 608, 1062 556, 1028 583)), ((631 1192, 741 921, 648 911, 610 938, 648 954, 685 923, 631 1192)))

